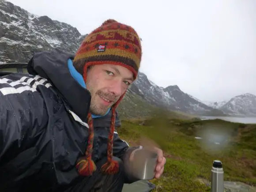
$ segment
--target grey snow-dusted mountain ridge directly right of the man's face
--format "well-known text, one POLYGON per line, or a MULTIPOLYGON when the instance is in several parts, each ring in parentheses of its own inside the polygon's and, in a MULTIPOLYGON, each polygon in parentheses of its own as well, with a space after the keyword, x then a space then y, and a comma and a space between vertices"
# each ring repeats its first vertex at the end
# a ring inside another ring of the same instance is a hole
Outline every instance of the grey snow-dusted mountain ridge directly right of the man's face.
POLYGON ((177 85, 166 88, 158 87, 142 72, 139 72, 132 87, 133 90, 137 88, 137 94, 143 95, 143 98, 148 102, 165 109, 194 114, 222 114, 221 111, 213 109, 193 96, 184 93, 177 85))

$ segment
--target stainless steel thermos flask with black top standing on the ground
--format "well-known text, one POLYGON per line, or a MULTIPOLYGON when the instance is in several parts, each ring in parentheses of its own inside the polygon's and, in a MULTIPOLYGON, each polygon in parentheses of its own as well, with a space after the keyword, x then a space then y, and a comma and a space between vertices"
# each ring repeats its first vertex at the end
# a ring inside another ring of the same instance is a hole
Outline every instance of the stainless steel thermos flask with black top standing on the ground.
POLYGON ((224 171, 218 160, 213 161, 211 169, 211 192, 224 192, 224 171))

